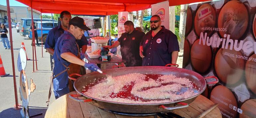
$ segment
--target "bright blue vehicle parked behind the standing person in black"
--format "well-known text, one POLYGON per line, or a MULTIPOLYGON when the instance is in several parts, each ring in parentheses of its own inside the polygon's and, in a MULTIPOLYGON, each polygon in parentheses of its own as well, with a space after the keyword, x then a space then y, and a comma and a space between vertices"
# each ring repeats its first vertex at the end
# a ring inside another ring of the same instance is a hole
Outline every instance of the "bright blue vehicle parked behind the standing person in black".
MULTIPOLYGON (((52 21, 43 21, 42 22, 42 31, 43 31, 43 42, 45 43, 48 32, 53 29, 54 27, 58 26, 58 22, 53 22, 52 21)), ((35 26, 37 27, 37 34, 38 34, 38 39, 41 40, 41 21, 35 22, 35 26)), ((32 31, 29 29, 29 38, 32 38, 32 31)))

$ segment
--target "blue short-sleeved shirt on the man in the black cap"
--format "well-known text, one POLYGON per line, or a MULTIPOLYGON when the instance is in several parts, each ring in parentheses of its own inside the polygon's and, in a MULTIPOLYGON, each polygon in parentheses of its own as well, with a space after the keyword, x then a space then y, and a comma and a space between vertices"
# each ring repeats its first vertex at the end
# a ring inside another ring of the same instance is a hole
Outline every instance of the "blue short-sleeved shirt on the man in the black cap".
MULTIPOLYGON (((68 31, 64 31, 57 41, 55 45, 55 52, 54 52, 54 69, 53 74, 54 76, 61 73, 66 68, 63 66, 69 66, 70 62, 66 61, 65 59, 61 58, 61 54, 65 52, 70 52, 75 56, 78 54, 78 49, 76 46, 76 39, 75 37, 68 31), (58 57, 57 57, 58 55, 58 57)), ((62 90, 68 86, 68 75, 67 71, 59 75, 57 78, 53 80, 53 88, 54 90, 62 90)))

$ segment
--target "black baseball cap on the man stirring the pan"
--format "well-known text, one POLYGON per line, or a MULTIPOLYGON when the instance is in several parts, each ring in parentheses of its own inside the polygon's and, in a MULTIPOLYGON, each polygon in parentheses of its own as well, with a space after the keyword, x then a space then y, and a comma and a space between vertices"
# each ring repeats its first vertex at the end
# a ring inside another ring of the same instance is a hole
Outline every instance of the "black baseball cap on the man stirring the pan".
POLYGON ((85 25, 85 22, 82 18, 80 17, 74 17, 69 21, 69 25, 77 26, 78 28, 82 30, 91 30, 85 25))

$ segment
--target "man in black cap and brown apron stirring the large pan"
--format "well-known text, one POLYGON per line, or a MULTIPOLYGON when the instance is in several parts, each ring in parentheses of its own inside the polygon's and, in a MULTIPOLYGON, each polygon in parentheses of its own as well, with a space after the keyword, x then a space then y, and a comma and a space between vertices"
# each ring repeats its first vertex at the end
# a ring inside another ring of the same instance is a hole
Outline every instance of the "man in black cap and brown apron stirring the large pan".
POLYGON ((77 40, 81 40, 84 30, 90 30, 85 26, 84 20, 74 17, 69 21, 66 31, 58 39, 54 48, 54 94, 55 98, 69 93, 71 81, 68 75, 80 72, 81 67, 86 67, 92 71, 99 69, 94 63, 85 63, 80 59, 80 49, 77 40), (68 87, 69 85, 69 87, 68 87))

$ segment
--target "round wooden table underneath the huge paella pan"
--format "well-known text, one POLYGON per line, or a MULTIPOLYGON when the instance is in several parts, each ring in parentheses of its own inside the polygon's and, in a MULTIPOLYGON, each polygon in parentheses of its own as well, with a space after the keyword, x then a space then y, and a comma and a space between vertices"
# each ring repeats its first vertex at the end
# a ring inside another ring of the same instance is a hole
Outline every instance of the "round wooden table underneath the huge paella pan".
MULTIPOLYGON (((154 118, 154 116, 147 117, 131 117, 121 116, 105 112, 89 103, 77 102, 69 98, 69 94, 76 94, 72 91, 55 100, 47 109, 45 118, 154 118)), ((82 99, 83 97, 78 97, 82 99)), ((214 103, 206 97, 199 95, 189 107, 176 109, 172 112, 185 118, 194 118, 207 110, 214 103)), ((206 118, 221 118, 221 113, 218 107, 209 112, 206 118)))

